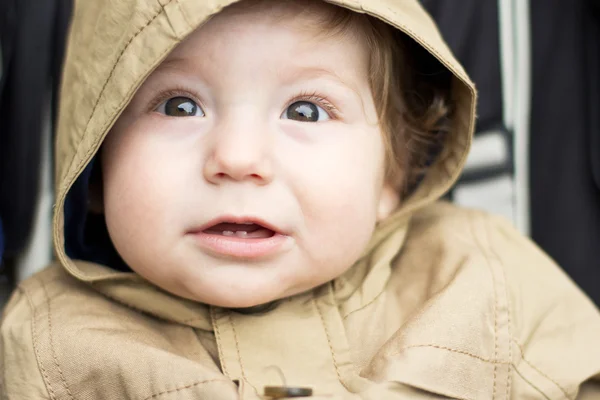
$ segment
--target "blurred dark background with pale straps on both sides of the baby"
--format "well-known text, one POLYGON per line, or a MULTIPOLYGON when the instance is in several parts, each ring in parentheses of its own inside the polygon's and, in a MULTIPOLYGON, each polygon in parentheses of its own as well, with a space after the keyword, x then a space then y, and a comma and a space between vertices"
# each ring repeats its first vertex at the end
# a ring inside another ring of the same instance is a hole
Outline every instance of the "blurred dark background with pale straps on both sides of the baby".
MULTIPOLYGON (((421 2, 479 90, 475 142, 448 199, 511 220, 600 306, 600 0, 421 2)), ((0 0, 0 306, 53 256, 72 7, 0 0)))

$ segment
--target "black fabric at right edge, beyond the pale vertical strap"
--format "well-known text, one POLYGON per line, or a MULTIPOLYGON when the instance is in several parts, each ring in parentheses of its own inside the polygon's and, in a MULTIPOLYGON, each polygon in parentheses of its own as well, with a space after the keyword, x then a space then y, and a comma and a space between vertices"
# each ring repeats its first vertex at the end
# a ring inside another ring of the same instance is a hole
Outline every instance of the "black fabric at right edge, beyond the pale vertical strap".
POLYGON ((600 305, 598 1, 531 0, 532 237, 600 305))

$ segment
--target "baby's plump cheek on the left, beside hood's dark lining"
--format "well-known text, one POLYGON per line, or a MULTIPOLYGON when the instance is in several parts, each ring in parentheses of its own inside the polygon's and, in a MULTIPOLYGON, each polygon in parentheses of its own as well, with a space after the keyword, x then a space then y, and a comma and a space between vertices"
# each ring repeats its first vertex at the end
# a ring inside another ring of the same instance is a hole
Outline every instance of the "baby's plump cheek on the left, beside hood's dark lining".
POLYGON ((113 132, 103 149, 104 212, 120 252, 135 250, 139 243, 159 247, 160 240, 175 234, 178 227, 185 161, 146 132, 113 132), (158 230, 163 234, 157 235, 158 230))

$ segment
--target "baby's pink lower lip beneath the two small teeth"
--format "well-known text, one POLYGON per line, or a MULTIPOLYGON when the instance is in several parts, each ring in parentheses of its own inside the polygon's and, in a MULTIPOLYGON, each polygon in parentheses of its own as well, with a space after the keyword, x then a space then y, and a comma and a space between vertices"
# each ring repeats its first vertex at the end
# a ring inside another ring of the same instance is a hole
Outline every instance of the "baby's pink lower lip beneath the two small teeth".
POLYGON ((190 235, 210 253, 240 259, 260 259, 273 256, 282 250, 289 236, 276 233, 268 238, 247 239, 223 236, 206 232, 193 232, 190 235))

